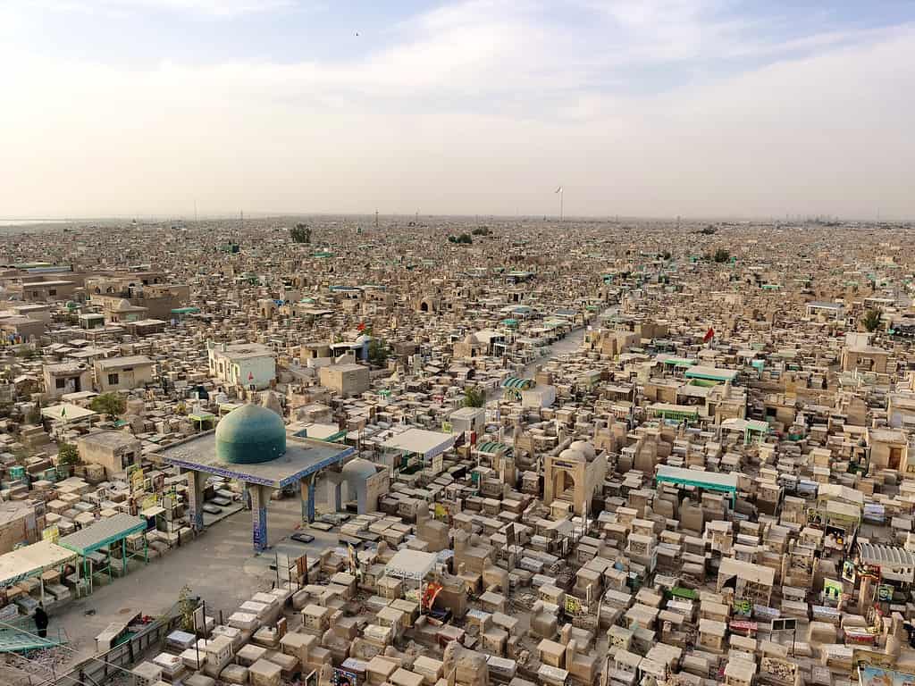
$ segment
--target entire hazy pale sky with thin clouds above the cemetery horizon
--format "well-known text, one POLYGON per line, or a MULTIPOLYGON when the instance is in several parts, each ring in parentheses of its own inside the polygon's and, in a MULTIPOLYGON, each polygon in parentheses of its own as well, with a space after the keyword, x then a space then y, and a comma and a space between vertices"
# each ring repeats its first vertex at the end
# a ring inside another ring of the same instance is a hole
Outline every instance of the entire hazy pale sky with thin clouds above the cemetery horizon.
POLYGON ((0 0, 0 218, 915 218, 913 85, 901 0, 0 0))

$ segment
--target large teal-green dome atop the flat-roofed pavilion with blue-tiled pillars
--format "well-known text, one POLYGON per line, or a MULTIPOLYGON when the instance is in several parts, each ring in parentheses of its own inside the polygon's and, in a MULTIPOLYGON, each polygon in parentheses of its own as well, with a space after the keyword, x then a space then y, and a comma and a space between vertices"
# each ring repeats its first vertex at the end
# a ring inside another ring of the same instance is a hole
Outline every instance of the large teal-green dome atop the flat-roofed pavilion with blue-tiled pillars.
POLYGON ((261 405, 242 405, 216 426, 216 456, 222 462, 251 465, 284 454, 283 418, 261 405))

